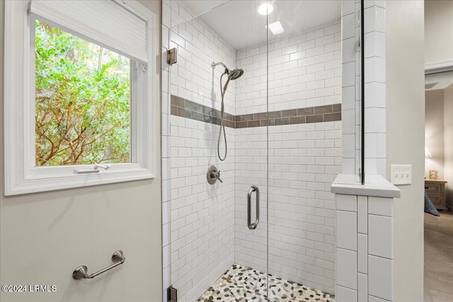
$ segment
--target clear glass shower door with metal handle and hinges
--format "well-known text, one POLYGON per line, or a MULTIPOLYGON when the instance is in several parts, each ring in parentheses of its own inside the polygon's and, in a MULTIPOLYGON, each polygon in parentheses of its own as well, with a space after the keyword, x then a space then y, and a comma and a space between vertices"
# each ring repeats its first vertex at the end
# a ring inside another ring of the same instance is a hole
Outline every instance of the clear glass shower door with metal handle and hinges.
POLYGON ((162 3, 163 57, 177 53, 162 62, 164 289, 178 301, 267 291, 266 16, 218 2, 162 3))

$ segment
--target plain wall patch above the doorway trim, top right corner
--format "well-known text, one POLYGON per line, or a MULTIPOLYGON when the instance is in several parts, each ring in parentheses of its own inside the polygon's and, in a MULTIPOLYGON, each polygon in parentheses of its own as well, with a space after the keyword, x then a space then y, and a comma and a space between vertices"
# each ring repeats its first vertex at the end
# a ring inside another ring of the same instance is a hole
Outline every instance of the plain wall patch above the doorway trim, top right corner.
POLYGON ((425 2, 425 63, 453 59, 453 1, 425 2))

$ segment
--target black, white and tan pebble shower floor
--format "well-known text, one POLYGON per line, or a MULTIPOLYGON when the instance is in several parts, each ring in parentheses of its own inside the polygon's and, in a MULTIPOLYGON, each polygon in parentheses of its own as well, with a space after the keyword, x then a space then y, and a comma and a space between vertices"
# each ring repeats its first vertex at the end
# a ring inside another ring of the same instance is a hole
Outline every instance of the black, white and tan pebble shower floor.
POLYGON ((274 277, 242 265, 231 265, 225 274, 198 298, 197 302, 333 302, 334 297, 286 279, 274 277), (266 279, 269 278, 269 291, 266 279), (268 298, 269 294, 269 298, 268 298))

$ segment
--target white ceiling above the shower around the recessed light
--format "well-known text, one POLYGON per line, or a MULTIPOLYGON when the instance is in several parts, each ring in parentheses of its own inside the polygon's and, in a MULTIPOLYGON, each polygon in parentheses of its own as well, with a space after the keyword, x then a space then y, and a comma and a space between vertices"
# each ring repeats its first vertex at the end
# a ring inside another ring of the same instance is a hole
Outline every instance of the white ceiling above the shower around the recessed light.
MULTIPOLYGON (((266 42, 266 16, 257 12, 262 0, 183 0, 196 16, 210 25, 236 50, 266 42)), ((285 32, 269 33, 269 40, 304 33, 317 25, 340 19, 339 0, 275 0, 268 23, 280 21, 285 32)))

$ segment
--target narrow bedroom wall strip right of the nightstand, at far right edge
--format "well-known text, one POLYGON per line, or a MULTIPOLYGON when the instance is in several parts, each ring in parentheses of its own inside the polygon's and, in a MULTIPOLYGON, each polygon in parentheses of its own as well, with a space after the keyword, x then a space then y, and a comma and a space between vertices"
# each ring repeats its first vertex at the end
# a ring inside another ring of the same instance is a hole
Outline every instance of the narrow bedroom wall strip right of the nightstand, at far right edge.
POLYGON ((445 175, 447 180, 446 203, 453 210, 453 84, 444 89, 444 143, 445 175))

